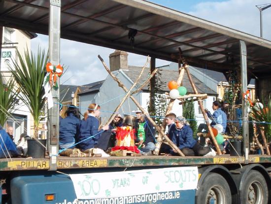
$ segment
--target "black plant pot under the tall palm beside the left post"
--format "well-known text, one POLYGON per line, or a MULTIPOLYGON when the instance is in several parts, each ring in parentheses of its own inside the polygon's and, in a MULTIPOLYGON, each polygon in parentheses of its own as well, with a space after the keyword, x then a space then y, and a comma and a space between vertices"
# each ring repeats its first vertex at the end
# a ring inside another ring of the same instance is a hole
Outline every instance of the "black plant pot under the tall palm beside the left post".
POLYGON ((36 140, 36 139, 31 139, 27 140, 27 154, 29 157, 32 157, 34 159, 38 158, 45 158, 45 150, 46 148, 46 139, 42 140, 36 140))

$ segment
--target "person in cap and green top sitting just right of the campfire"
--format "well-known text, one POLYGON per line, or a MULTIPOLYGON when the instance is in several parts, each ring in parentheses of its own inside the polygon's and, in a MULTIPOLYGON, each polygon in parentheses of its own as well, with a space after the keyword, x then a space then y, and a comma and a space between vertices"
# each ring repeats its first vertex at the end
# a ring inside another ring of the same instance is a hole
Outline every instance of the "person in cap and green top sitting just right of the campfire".
POLYGON ((155 149, 155 127, 144 116, 141 110, 133 111, 137 118, 136 140, 137 147, 142 155, 152 155, 155 149))

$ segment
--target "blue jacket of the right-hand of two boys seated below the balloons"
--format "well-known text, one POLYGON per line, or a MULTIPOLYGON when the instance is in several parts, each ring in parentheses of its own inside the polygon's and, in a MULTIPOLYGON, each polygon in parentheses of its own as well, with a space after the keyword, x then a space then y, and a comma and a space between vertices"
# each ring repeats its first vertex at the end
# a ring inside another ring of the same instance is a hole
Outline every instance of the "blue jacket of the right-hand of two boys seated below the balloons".
POLYGON ((171 141, 181 150, 185 147, 193 148, 197 141, 193 138, 193 130, 190 126, 184 125, 181 129, 177 129, 175 124, 169 129, 169 137, 171 141))

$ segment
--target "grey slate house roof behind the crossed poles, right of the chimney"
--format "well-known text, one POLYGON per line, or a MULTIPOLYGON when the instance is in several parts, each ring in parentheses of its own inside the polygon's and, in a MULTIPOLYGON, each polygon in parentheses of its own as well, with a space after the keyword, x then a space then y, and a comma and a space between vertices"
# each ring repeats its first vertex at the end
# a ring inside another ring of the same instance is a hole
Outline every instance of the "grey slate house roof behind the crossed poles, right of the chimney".
MULTIPOLYGON (((133 82, 137 79, 139 73, 141 72, 140 67, 136 66, 128 66, 128 70, 122 70, 133 82)), ((161 91, 169 91, 168 83, 171 80, 176 81, 179 72, 177 70, 167 70, 167 69, 160 69, 161 73, 161 91)), ((138 85, 142 84, 145 80, 147 80, 149 76, 149 68, 145 68, 141 79, 138 82, 138 85)), ((215 91, 208 88, 203 82, 200 82, 197 78, 191 75, 193 82, 195 83, 197 90, 199 93, 207 93, 208 95, 217 95, 215 91)), ((187 75, 185 74, 183 77, 183 86, 186 87, 188 93, 194 93, 192 86, 188 80, 187 75)), ((146 85, 142 90, 149 90, 148 86, 146 85)))

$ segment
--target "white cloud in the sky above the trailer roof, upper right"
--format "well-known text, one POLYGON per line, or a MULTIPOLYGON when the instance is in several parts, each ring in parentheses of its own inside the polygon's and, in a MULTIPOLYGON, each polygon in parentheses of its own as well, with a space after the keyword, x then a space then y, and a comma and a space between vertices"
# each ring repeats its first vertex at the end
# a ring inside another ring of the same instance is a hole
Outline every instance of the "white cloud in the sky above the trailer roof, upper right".
MULTIPOLYGON (((260 12, 255 5, 264 3, 267 0, 202 2, 189 14, 259 37, 260 12)), ((270 10, 263 11, 263 37, 268 40, 271 40, 270 10)))

